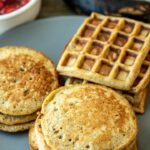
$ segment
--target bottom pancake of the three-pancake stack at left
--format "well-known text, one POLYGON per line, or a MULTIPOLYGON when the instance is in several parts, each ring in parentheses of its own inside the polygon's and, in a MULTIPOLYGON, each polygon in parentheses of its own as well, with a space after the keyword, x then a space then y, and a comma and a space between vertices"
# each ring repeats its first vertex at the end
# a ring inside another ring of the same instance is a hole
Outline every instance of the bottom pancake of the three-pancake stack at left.
POLYGON ((17 125, 5 125, 0 123, 0 130, 6 131, 6 132, 19 132, 19 131, 25 131, 30 129, 34 124, 34 121, 23 123, 23 124, 17 124, 17 125))

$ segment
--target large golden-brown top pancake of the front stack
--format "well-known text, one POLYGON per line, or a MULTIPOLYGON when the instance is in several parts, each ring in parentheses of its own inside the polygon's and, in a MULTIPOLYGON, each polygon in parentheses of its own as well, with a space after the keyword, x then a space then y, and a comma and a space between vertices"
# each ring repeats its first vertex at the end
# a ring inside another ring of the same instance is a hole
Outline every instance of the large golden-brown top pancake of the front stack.
POLYGON ((52 149, 131 149, 137 128, 129 102, 99 85, 59 88, 42 105, 41 130, 52 149))

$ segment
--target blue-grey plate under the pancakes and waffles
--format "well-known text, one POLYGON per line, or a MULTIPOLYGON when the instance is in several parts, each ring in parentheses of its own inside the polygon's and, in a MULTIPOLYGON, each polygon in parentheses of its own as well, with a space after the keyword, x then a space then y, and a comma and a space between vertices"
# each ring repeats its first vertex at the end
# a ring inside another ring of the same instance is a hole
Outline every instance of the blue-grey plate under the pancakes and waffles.
MULTIPOLYGON (((65 44, 84 18, 54 17, 29 23, 1 35, 0 46, 21 45, 35 48, 48 55, 57 64, 65 44)), ((138 150, 150 149, 150 94, 147 102, 145 114, 138 116, 138 150)), ((17 134, 0 132, 0 150, 29 150, 27 132, 17 134)))

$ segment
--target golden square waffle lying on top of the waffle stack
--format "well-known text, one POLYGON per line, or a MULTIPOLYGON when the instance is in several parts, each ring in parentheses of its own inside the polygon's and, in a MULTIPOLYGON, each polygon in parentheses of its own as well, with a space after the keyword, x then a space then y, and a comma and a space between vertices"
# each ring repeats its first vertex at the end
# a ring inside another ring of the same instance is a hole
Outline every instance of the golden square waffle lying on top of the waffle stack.
POLYGON ((148 84, 149 69, 141 74, 140 68, 150 66, 149 33, 149 24, 92 13, 66 46, 57 70, 62 75, 136 93, 148 84), (142 82, 136 85, 139 77, 142 82))

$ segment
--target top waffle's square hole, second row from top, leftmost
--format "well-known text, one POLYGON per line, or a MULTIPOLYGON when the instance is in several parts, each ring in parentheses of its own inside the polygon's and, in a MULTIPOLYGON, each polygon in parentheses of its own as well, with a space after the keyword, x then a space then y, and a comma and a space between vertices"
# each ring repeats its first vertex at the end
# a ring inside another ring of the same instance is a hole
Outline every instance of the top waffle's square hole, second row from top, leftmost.
POLYGON ((93 32, 94 32, 95 28, 91 27, 91 26, 88 26, 86 25, 82 31, 82 34, 81 36, 82 37, 91 37, 93 32))

